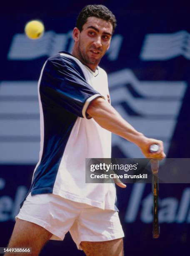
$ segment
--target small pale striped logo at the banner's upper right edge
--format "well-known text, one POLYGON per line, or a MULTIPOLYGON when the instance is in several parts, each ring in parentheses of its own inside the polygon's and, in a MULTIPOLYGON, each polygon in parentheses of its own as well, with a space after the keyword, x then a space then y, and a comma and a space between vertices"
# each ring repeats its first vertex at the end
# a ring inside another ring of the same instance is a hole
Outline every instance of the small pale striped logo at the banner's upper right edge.
POLYGON ((147 34, 140 52, 140 59, 165 61, 180 55, 190 59, 190 34, 187 31, 171 34, 147 34))

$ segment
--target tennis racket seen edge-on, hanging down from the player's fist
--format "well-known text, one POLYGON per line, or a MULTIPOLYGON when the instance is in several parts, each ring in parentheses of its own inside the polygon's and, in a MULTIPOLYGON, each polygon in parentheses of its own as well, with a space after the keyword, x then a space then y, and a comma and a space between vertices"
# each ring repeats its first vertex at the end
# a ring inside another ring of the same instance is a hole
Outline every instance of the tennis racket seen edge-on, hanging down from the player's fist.
MULTIPOLYGON (((157 144, 153 144, 150 146, 150 152, 155 153, 159 150, 159 146, 157 144)), ((151 170, 153 173, 152 179, 152 189, 153 189, 153 238, 159 238, 160 236, 160 226, 158 221, 158 169, 159 169, 159 161, 156 159, 150 160, 151 170), (157 174, 157 175, 155 175, 157 174)))

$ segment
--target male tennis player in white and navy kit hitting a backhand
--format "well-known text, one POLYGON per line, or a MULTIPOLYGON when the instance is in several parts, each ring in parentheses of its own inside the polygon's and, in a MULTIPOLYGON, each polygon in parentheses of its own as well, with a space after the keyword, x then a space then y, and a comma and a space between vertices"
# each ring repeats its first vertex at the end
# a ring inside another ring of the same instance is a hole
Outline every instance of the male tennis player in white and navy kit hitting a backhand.
POLYGON ((42 68, 40 159, 8 247, 31 247, 38 255, 49 239, 63 240, 69 231, 86 255, 123 255, 115 184, 85 184, 85 159, 110 158, 111 133, 135 143, 148 158, 165 154, 162 141, 143 136, 110 105, 107 74, 98 64, 115 27, 105 6, 87 5, 73 30, 72 54, 62 51, 42 68), (151 154, 155 143, 160 150, 151 154))

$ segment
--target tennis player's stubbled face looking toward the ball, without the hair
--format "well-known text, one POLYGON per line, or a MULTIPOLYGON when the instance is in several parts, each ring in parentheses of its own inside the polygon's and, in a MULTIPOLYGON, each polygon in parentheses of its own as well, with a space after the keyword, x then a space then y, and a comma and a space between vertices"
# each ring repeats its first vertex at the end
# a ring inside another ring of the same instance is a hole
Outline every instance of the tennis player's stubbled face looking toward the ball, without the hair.
POLYGON ((96 17, 89 17, 83 25, 77 44, 80 60, 95 69, 110 46, 112 24, 96 17))

